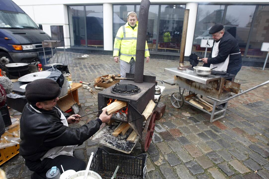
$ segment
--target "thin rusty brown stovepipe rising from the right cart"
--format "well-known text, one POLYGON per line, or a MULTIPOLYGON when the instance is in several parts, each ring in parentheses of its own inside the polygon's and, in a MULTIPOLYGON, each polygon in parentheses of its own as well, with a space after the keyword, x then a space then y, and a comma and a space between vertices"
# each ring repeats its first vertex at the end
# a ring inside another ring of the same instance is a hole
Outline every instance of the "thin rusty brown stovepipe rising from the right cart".
POLYGON ((184 21, 183 21, 183 29, 182 29, 182 37, 181 37, 181 43, 180 43, 179 66, 184 66, 184 54, 185 54, 186 39, 187 39, 189 13, 190 13, 190 9, 185 9, 184 21))

